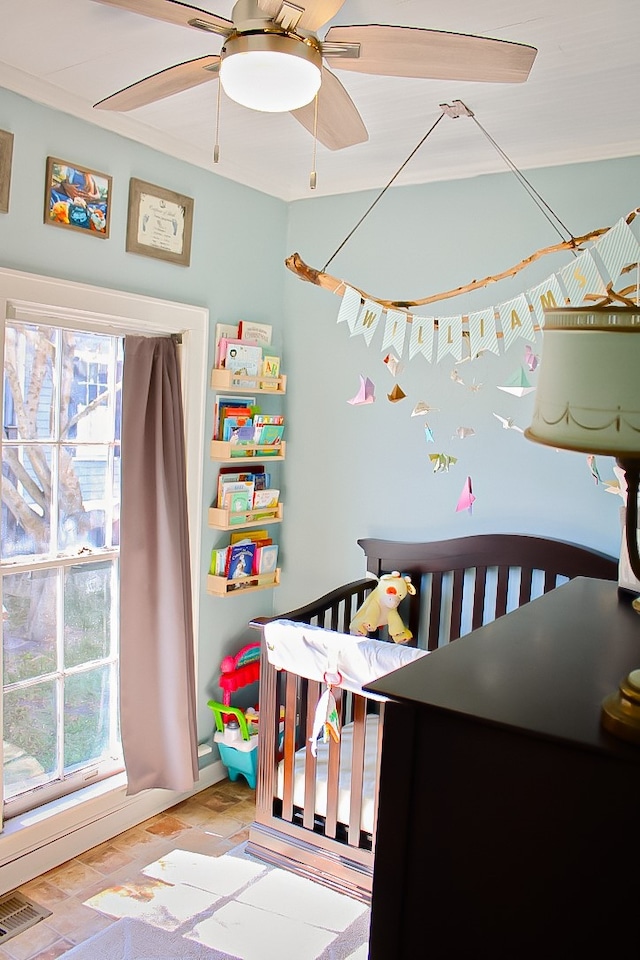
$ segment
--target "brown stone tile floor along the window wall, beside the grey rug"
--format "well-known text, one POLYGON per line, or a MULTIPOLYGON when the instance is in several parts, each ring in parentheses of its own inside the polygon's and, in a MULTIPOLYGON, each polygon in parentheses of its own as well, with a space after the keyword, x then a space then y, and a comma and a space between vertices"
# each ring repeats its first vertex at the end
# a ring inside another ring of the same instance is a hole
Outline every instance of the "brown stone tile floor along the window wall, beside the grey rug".
POLYGON ((25 884, 21 892, 53 912, 0 947, 0 960, 56 960, 115 923, 117 916, 87 905, 91 898, 117 891, 135 915, 136 903, 161 898, 167 889, 143 869, 176 849, 219 857, 242 843, 254 796, 244 779, 223 780, 25 884))

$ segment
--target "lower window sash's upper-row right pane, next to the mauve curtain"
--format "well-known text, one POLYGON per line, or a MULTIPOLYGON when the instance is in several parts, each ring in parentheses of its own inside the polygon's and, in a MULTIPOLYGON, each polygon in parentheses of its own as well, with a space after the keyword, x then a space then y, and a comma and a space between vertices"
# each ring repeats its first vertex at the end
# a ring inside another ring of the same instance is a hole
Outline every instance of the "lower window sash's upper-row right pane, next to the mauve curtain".
POLYGON ((111 561, 65 571, 65 669, 111 654, 111 561))

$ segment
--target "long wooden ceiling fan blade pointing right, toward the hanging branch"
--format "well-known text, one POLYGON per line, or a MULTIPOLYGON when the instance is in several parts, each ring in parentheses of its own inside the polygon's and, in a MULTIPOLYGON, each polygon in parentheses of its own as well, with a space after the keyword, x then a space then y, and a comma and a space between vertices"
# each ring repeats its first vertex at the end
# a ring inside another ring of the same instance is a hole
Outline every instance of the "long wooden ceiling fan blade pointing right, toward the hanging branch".
POLYGON ((508 40, 377 24, 331 27, 325 42, 360 44, 360 56, 355 58, 332 56, 323 44, 327 62, 340 70, 490 83, 522 83, 538 52, 535 47, 508 40))

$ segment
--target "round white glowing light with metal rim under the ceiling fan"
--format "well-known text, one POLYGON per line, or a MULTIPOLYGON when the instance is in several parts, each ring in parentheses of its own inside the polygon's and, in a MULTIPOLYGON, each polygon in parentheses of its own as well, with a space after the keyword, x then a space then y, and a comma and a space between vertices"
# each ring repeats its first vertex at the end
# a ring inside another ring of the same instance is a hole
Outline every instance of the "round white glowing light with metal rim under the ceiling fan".
POLYGON ((284 34, 240 34, 221 51, 220 82, 232 100, 266 113, 285 113, 311 103, 320 89, 322 55, 304 40, 284 34))

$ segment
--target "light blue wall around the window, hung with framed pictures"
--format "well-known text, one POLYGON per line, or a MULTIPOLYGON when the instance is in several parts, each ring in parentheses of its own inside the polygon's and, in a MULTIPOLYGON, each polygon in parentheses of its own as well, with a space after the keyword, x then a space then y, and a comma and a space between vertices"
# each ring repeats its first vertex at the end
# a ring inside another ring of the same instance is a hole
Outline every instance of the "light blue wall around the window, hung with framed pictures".
MULTIPOLYGON (((218 321, 273 321, 274 345, 279 349, 286 204, 2 89, 0 129, 14 134, 10 210, 0 214, 2 266, 207 307, 211 328, 209 368, 213 365, 213 329, 218 321), (86 165, 113 177, 108 240, 43 223, 47 156, 86 165), (125 252, 130 177, 194 198, 189 268, 125 252)), ((202 588, 200 740, 213 727, 206 701, 220 697, 217 678, 222 657, 236 653, 248 639, 257 638, 247 630, 247 622, 270 613, 273 601, 269 591, 230 599, 213 598, 205 592, 211 548, 228 542, 228 534, 216 533, 206 523, 206 508, 213 499, 217 477, 208 449, 212 412, 210 391, 203 437, 205 502, 198 571, 202 588)))

